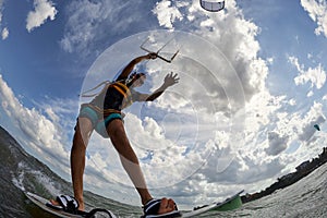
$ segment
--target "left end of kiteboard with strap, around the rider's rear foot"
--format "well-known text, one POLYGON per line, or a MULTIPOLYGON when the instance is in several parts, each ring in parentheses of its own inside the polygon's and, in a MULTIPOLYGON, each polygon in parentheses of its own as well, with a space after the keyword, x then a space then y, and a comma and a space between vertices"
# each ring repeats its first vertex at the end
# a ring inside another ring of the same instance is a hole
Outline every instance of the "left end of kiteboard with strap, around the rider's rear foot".
POLYGON ((56 215, 57 217, 62 217, 62 218, 90 218, 94 217, 93 215, 95 213, 106 213, 107 216, 109 216, 110 218, 117 218, 111 211, 107 210, 107 209, 100 209, 100 208, 95 208, 90 211, 80 211, 77 213, 77 215, 73 215, 70 213, 66 213, 62 209, 56 209, 52 207, 47 206, 49 204, 49 199, 46 199, 41 196, 38 196, 37 194, 31 193, 31 192, 26 192, 25 195, 27 196, 28 199, 31 199, 31 202, 33 202, 35 205, 37 205, 38 207, 40 207, 41 209, 56 215))

